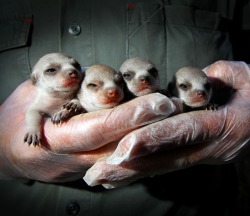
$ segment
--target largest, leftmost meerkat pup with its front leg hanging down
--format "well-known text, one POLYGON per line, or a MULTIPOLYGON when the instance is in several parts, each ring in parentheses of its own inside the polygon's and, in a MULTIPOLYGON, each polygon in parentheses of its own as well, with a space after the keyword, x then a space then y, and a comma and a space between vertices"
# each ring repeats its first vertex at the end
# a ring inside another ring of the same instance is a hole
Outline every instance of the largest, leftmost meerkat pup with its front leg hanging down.
POLYGON ((26 113, 27 133, 24 141, 34 146, 41 142, 43 117, 51 117, 56 123, 67 119, 69 112, 61 110, 63 104, 76 96, 82 72, 80 64, 62 53, 50 53, 41 57, 31 73, 37 95, 26 113))

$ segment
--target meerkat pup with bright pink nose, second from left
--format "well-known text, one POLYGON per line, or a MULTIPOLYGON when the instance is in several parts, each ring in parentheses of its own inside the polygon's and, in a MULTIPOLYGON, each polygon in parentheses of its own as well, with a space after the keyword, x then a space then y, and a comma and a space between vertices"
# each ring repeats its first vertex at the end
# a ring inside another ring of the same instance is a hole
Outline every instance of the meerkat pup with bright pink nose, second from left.
MULTIPOLYGON (((82 107, 84 112, 93 112, 117 106, 124 98, 124 82, 113 68, 97 64, 86 69, 77 99, 65 104, 65 108, 82 107)), ((74 114, 73 114, 74 115, 74 114)))

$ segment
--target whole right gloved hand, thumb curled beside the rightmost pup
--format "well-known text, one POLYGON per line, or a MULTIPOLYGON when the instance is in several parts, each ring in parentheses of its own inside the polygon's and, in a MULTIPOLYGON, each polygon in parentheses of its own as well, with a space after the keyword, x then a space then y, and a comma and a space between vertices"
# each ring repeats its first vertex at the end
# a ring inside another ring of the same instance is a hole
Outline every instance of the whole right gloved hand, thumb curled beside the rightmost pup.
POLYGON ((205 72, 215 89, 230 87, 231 96, 224 106, 217 111, 181 113, 131 132, 110 157, 100 159, 87 171, 84 180, 91 186, 118 187, 197 164, 228 163, 247 154, 249 66, 243 62, 218 61, 205 72))

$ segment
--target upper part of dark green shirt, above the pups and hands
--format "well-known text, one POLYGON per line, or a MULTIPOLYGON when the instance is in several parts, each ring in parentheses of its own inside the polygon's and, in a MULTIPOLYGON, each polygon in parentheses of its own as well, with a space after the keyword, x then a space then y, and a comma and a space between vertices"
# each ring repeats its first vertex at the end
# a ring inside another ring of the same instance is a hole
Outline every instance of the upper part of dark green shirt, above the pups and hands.
POLYGON ((67 53, 84 66, 104 63, 115 69, 126 58, 146 57, 166 87, 182 66, 203 68, 232 59, 230 33, 250 29, 248 22, 235 24, 243 19, 236 16, 243 10, 236 0, 0 2, 1 102, 49 52, 67 53))

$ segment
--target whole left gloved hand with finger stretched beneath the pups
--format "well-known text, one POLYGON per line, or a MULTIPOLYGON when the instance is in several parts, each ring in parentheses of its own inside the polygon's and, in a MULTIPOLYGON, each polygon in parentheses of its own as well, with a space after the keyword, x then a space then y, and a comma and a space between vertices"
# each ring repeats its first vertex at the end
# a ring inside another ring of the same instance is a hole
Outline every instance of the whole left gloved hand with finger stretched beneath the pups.
POLYGON ((156 93, 113 109, 74 116, 61 125, 46 119, 46 145, 35 147, 23 141, 25 112, 35 95, 35 87, 27 81, 0 107, 0 179, 63 182, 82 178, 98 158, 113 152, 117 140, 175 110, 171 100, 156 93))

